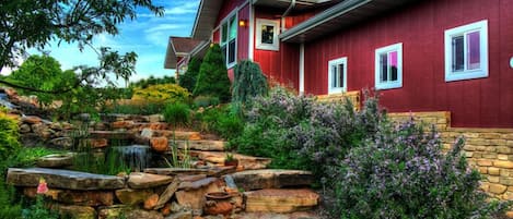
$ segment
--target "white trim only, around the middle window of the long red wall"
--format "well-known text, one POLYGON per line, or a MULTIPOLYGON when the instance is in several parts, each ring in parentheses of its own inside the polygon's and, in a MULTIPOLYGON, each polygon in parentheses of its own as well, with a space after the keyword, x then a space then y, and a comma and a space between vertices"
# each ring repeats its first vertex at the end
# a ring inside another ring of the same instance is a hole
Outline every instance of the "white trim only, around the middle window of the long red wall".
POLYGON ((393 89, 403 87, 403 42, 376 49, 374 59, 374 85, 376 89, 393 89), (397 51, 397 81, 380 82, 380 54, 397 51))

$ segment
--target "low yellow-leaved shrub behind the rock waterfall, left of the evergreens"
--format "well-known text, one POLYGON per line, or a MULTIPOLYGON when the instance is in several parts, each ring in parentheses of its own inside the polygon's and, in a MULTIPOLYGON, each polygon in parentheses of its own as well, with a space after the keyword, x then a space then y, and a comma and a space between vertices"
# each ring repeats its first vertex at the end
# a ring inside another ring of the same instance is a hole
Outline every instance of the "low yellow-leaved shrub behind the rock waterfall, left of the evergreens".
POLYGON ((147 88, 135 88, 132 100, 147 102, 178 102, 188 101, 190 94, 177 84, 156 84, 147 88))

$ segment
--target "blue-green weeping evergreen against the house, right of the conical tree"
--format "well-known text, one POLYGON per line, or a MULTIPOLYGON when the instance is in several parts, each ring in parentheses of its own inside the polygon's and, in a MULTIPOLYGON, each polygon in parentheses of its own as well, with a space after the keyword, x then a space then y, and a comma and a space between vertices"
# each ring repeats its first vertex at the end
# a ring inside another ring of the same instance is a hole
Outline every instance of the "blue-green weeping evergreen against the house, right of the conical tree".
POLYGON ((247 102, 256 96, 265 96, 268 93, 266 76, 260 66, 249 60, 243 60, 235 65, 232 89, 232 100, 247 102))

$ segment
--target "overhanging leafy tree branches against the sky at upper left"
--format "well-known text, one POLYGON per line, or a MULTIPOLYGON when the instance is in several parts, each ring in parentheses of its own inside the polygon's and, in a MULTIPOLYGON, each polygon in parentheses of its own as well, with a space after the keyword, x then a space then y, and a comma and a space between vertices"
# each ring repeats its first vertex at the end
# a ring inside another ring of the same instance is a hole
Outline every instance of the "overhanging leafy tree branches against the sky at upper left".
MULTIPOLYGON (((117 24, 126 19, 133 20, 137 8, 145 8, 156 15, 163 8, 153 5, 151 0, 16 0, 0 1, 0 70, 14 66, 16 58, 23 57, 27 49, 43 50, 53 40, 77 42, 80 49, 90 46, 95 35, 119 33, 117 24)), ((107 74, 116 78, 128 77, 135 73, 137 54, 119 54, 109 48, 101 48, 98 66, 78 66, 82 82, 96 83, 98 80, 113 84, 107 74)), ((20 86, 0 80, 0 83, 19 88, 20 86)), ((33 89, 33 88, 32 88, 33 89)), ((67 90, 71 89, 67 88, 67 90)), ((61 93, 63 90, 42 90, 61 93)))

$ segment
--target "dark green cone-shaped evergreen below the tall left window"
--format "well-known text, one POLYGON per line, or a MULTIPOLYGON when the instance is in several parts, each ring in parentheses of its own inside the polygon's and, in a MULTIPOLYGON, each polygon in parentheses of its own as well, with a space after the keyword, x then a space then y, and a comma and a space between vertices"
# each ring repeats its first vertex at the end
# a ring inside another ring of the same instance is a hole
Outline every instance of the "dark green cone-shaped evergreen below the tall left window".
POLYGON ((210 47, 205 56, 193 95, 215 96, 219 97, 221 102, 228 102, 231 96, 230 86, 221 47, 215 44, 210 47))

